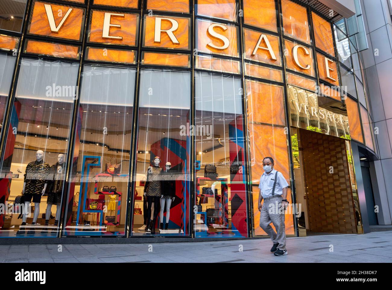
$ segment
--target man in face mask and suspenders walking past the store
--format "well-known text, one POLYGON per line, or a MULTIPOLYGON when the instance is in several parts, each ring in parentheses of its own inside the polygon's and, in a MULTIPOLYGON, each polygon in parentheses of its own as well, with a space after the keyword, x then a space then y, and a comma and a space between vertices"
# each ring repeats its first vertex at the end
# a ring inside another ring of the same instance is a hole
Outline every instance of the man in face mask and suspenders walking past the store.
POLYGON ((275 256, 287 255, 285 233, 285 208, 289 184, 279 171, 274 170, 274 159, 263 159, 264 173, 260 177, 259 204, 260 227, 270 236, 274 245, 271 252, 275 256), (264 199, 263 205, 261 201, 264 199), (273 223, 276 232, 270 226, 273 223))

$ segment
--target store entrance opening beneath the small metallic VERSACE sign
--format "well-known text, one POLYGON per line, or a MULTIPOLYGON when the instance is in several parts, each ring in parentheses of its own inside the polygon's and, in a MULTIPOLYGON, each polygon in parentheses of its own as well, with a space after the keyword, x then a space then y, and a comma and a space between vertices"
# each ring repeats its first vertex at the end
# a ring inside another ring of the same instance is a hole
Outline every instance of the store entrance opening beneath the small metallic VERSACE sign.
POLYGON ((343 138, 293 129, 294 177, 301 204, 301 236, 323 233, 358 233, 359 212, 350 178, 351 156, 343 138))

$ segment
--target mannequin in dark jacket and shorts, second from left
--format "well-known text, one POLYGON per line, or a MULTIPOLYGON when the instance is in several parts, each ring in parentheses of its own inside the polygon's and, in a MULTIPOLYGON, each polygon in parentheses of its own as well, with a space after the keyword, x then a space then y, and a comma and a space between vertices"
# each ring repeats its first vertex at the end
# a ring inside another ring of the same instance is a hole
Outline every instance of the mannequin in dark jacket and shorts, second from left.
POLYGON ((61 212, 61 198, 63 192, 63 185, 65 179, 65 162, 64 154, 58 154, 57 162, 51 167, 51 178, 53 182, 49 187, 46 213, 45 213, 45 226, 49 225, 49 218, 52 212, 52 205, 56 205, 56 217, 54 219, 54 226, 58 226, 58 220, 60 219, 61 212))

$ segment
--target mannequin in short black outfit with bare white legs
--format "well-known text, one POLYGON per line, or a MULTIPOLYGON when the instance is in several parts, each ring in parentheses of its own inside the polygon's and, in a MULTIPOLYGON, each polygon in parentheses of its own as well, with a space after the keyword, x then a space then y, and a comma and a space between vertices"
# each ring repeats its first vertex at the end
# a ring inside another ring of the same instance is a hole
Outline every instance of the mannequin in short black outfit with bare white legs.
POLYGON ((165 170, 162 171, 162 195, 161 195, 161 213, 160 213, 160 225, 159 228, 163 230, 163 211, 165 209, 166 201, 166 223, 165 230, 169 227, 170 220, 170 206, 172 201, 176 198, 176 181, 170 172, 171 163, 166 162, 165 170))

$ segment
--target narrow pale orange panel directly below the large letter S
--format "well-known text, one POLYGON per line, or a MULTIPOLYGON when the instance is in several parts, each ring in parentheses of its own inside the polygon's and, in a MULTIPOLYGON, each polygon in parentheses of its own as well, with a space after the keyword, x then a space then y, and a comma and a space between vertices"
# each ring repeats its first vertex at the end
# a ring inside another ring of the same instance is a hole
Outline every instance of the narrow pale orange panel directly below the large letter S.
POLYGON ((208 69, 209 71, 229 72, 240 74, 240 62, 238 60, 226 60, 212 56, 198 55, 195 58, 196 69, 208 69))

